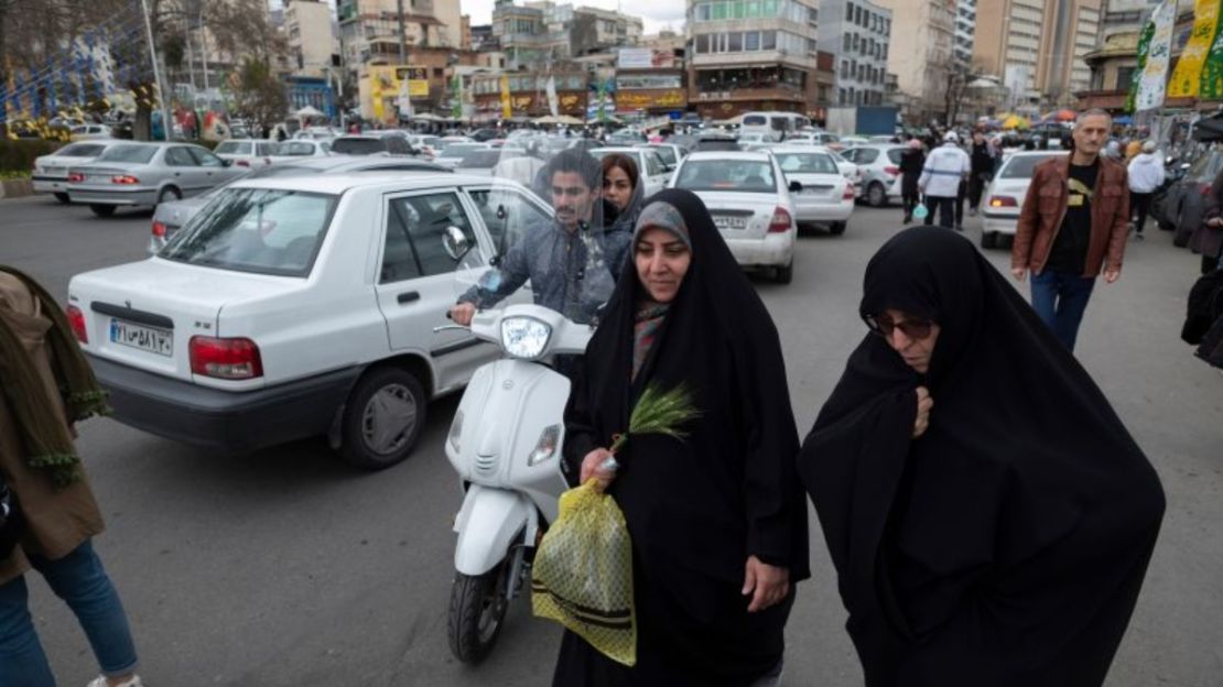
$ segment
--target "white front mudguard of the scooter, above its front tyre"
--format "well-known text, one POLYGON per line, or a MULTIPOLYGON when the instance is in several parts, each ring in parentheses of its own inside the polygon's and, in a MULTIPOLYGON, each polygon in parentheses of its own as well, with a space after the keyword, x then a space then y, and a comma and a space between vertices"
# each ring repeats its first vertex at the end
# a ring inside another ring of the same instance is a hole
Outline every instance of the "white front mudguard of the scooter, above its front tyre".
POLYGON ((534 505, 525 495, 472 484, 455 520, 455 570, 484 575, 505 557, 523 529, 526 540, 534 542, 537 527, 534 505))

